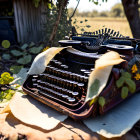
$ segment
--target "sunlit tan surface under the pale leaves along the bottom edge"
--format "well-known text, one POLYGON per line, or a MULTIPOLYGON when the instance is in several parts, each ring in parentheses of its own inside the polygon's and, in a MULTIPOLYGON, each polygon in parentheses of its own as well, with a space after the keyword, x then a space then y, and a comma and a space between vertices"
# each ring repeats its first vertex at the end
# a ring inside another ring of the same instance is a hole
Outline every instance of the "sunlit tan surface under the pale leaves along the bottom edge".
MULTIPOLYGON (((55 129, 46 131, 41 128, 27 125, 16 119, 11 113, 6 117, 0 114, 0 140, 138 140, 131 131, 122 137, 104 138, 92 132, 82 122, 76 122, 67 118, 55 129)), ((140 132, 140 131, 139 131, 140 132)))

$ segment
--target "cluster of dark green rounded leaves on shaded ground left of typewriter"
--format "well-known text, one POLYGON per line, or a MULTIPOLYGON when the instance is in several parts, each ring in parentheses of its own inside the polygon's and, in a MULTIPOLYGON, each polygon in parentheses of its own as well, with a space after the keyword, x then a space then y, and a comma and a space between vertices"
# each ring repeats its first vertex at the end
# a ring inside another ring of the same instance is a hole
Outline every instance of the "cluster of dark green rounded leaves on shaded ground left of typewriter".
POLYGON ((8 61, 15 62, 13 65, 9 66, 9 71, 17 74, 21 68, 30 67, 32 60, 37 54, 42 52, 43 48, 43 43, 35 44, 34 42, 28 44, 26 43, 22 46, 14 45, 10 48, 5 48, 2 52, 0 52, 2 54, 1 60, 6 60, 7 63, 8 61))

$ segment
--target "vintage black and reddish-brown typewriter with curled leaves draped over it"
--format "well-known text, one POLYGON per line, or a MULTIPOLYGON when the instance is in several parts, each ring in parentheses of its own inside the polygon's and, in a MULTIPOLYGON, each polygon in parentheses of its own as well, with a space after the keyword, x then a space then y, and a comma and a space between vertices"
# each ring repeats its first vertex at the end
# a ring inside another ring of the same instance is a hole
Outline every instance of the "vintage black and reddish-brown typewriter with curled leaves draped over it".
MULTIPOLYGON (((93 33, 74 34, 70 38, 72 40, 60 40, 59 43, 72 48, 56 54, 43 73, 29 75, 23 91, 74 119, 104 114, 124 100, 115 86, 124 64, 113 67, 107 86, 100 94, 107 99, 104 107, 100 107, 98 102, 91 106, 85 102, 90 72, 94 70, 95 61, 109 50, 117 51, 127 61, 131 60, 136 41, 106 28, 93 33)), ((137 91, 139 89, 140 83, 137 91)))

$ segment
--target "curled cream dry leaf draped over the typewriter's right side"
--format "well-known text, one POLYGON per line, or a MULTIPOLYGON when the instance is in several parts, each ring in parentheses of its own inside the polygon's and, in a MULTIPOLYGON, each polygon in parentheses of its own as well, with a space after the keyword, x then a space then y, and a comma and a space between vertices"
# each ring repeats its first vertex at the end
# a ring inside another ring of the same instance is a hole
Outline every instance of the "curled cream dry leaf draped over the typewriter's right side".
POLYGON ((91 99, 95 100, 106 86, 113 65, 119 64, 123 61, 125 60, 121 59, 117 52, 113 51, 102 55, 98 60, 96 60, 95 69, 91 72, 89 77, 86 101, 91 99), (98 89, 93 88, 95 80, 99 81, 98 89))

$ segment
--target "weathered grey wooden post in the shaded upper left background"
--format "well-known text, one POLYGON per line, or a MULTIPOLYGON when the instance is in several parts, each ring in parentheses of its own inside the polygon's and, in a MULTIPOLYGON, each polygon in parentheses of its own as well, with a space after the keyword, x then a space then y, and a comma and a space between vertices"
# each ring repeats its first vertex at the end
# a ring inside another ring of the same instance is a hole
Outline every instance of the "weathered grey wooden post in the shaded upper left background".
POLYGON ((38 42, 43 40, 43 26, 46 23, 46 11, 43 2, 36 8, 32 1, 13 0, 18 42, 38 42))

